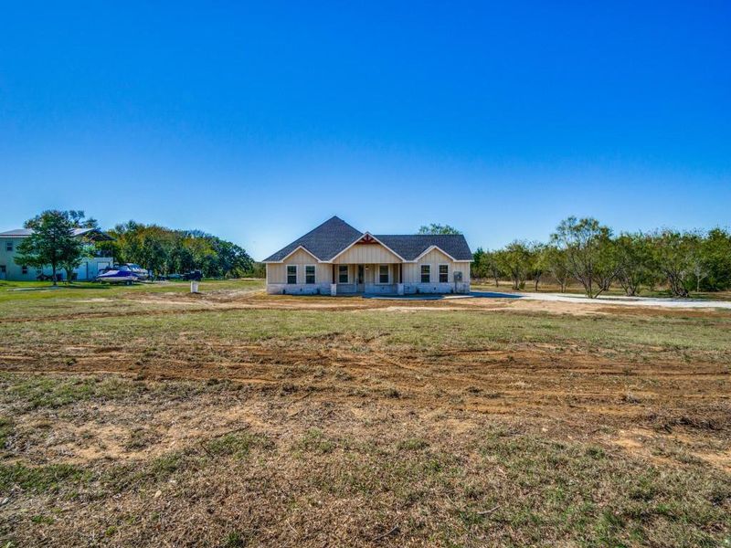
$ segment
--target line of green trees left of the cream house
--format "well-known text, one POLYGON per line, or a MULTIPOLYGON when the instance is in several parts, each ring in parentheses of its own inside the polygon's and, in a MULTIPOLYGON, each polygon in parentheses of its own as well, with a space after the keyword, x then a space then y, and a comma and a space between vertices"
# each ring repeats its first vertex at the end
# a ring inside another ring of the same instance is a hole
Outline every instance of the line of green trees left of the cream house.
POLYGON ((44 211, 26 221, 25 227, 33 233, 18 246, 16 263, 38 269, 50 266, 54 284, 59 269, 65 269, 70 280, 72 270, 96 250, 117 263, 135 263, 158 276, 191 270, 200 270, 207 278, 263 276, 261 265, 244 248, 200 230, 129 221, 106 231, 111 241, 93 243, 76 237, 75 230, 99 230, 95 219, 83 211, 58 210, 44 211))

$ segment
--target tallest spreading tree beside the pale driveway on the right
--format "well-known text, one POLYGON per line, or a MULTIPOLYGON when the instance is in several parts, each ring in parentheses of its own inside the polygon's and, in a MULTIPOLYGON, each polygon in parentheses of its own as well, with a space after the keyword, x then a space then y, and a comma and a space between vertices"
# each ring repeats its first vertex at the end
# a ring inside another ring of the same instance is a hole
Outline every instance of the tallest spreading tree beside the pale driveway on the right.
POLYGON ((551 239, 566 252, 569 271, 584 286, 588 298, 609 290, 618 272, 609 227, 599 225, 595 218, 570 216, 556 227, 551 239))

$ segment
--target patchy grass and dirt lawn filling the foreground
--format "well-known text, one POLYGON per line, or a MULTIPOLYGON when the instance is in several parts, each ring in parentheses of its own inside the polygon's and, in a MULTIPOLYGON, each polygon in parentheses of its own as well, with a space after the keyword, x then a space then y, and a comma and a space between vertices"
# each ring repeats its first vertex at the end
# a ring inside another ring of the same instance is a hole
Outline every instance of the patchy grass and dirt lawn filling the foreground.
POLYGON ((0 546, 723 546, 731 313, 0 288, 0 546))

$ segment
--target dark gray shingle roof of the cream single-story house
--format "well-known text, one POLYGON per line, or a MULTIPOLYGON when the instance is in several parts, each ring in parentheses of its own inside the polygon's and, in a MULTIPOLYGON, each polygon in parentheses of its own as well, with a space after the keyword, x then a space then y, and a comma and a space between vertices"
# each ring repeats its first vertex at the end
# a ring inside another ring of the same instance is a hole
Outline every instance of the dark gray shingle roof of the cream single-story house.
MULTIPOLYGON (((281 261, 300 246, 307 249, 316 258, 327 261, 363 235, 363 232, 334 216, 303 237, 294 240, 289 246, 281 248, 270 257, 265 258, 264 262, 281 261)), ((414 260, 431 246, 437 246, 456 260, 472 260, 470 247, 461 234, 374 235, 374 237, 396 251, 405 260, 414 260)))

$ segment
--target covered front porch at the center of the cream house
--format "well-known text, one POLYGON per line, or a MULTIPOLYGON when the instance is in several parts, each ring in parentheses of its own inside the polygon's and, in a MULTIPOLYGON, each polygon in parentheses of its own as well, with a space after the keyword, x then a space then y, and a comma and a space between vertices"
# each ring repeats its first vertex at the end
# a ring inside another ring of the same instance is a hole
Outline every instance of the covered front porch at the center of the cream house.
POLYGON ((401 263, 340 263, 332 265, 332 295, 403 295, 401 263))

